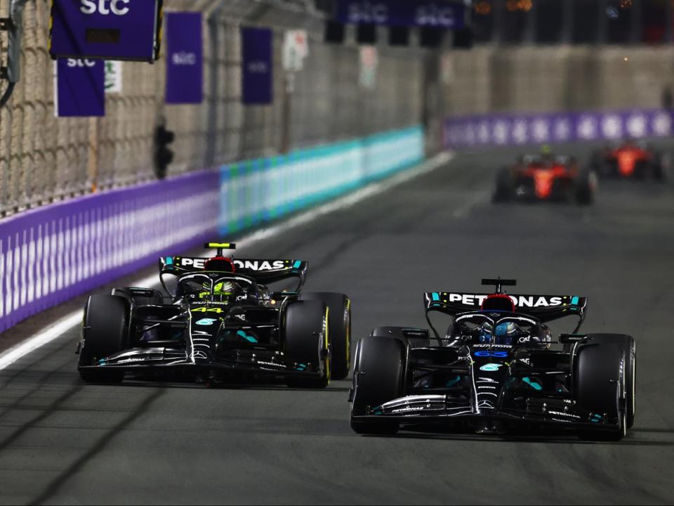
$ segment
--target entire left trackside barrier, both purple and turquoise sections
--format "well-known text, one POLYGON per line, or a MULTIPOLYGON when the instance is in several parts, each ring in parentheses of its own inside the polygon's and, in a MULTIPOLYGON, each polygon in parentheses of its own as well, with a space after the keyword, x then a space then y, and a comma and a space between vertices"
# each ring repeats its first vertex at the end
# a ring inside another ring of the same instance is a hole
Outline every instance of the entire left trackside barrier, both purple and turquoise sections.
POLYGON ((424 157, 423 129, 110 190, 0 221, 0 332, 175 254, 336 197, 424 157))

